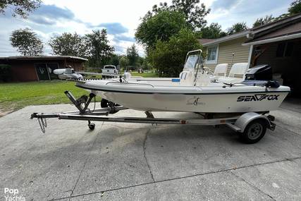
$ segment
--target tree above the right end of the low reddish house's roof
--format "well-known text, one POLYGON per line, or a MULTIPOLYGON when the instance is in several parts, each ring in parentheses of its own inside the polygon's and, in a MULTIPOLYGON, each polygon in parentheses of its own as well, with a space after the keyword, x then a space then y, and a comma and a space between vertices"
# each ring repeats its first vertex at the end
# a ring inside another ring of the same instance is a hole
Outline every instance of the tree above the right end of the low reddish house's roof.
POLYGON ((85 39, 76 32, 64 32, 62 35, 51 37, 49 45, 55 55, 86 55, 85 39))

